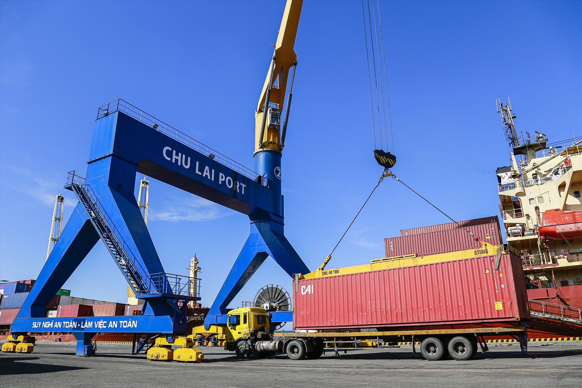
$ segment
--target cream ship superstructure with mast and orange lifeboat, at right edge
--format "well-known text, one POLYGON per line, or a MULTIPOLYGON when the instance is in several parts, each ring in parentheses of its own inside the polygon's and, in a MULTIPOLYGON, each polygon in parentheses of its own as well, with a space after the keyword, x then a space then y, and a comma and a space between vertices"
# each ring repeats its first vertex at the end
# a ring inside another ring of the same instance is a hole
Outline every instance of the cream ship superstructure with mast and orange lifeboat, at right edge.
POLYGON ((582 137, 549 143, 537 131, 519 136, 511 103, 497 99, 497 106, 512 149, 510 165, 496 171, 507 243, 521 257, 528 289, 553 289, 540 296, 569 304, 571 295, 580 304, 582 137))

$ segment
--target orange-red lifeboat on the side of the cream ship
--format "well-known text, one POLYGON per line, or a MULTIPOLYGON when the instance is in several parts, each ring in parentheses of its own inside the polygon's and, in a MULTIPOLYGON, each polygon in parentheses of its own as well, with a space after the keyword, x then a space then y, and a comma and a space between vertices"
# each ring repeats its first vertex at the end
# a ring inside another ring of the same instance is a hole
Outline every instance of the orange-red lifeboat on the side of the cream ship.
POLYGON ((565 212, 551 209, 544 212, 539 233, 546 240, 565 240, 582 237, 582 211, 565 212))

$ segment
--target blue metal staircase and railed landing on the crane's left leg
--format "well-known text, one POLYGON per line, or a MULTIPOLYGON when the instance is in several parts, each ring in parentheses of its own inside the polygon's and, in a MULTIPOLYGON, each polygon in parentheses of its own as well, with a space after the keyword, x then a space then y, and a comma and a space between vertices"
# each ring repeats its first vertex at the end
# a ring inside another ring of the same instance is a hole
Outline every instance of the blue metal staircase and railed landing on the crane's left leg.
POLYGON ((165 272, 150 274, 141 266, 91 186, 86 184, 85 179, 76 171, 69 172, 65 188, 72 190, 79 199, 95 230, 127 282, 132 286, 136 296, 165 294, 182 298, 198 297, 200 279, 165 272))

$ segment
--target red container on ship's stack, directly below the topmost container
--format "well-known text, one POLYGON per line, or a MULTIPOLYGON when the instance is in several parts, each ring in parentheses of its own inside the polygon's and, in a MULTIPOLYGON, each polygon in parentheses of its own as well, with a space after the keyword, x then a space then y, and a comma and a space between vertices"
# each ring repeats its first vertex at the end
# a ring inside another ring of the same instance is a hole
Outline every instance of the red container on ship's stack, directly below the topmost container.
MULTIPOLYGON (((467 228, 475 236, 481 237, 485 243, 492 245, 503 244, 499 225, 490 223, 467 228)), ((481 243, 464 229, 443 230, 412 236, 398 236, 384 239, 386 257, 404 256, 416 253, 417 255, 431 255, 437 253, 462 251, 481 248, 481 243)))

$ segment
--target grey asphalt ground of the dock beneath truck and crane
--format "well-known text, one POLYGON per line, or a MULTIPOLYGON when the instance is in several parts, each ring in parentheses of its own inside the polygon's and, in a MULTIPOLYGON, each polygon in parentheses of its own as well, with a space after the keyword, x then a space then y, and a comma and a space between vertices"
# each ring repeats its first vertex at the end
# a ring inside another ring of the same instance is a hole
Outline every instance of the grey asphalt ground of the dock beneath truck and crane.
POLYGON ((582 341, 489 344, 469 361, 425 361, 411 346, 350 351, 292 361, 240 360, 201 347, 200 364, 150 361, 130 345, 98 344, 94 357, 74 343, 37 342, 30 354, 0 353, 1 387, 582 387, 582 341))

